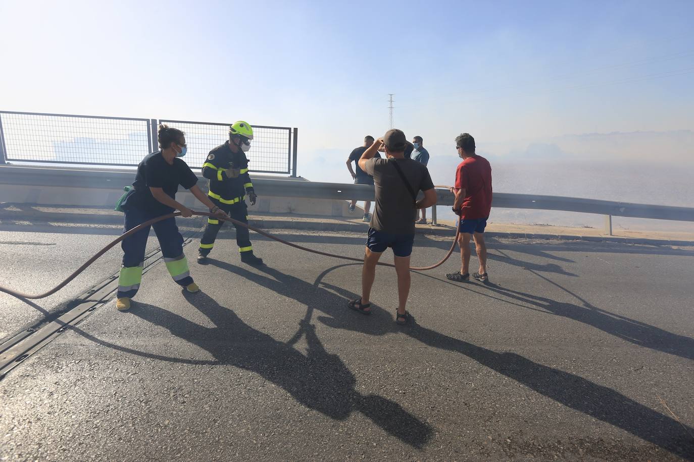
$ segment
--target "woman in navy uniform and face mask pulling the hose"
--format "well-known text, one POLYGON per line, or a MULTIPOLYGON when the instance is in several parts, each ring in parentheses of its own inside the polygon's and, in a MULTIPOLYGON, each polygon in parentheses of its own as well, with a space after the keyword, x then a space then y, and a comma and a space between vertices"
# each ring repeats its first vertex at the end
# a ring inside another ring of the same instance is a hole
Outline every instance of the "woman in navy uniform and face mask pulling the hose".
MULTIPOLYGON (((121 209, 126 214, 125 231, 174 210, 180 211, 184 217, 192 216, 189 208, 176 202, 178 185, 190 190, 212 213, 219 217, 226 216, 226 213, 212 204, 198 188, 198 177, 190 170, 188 164, 180 159, 185 156, 187 150, 185 134, 176 128, 160 125, 159 147, 161 150, 152 152, 139 163, 133 188, 121 202, 121 209)), ((167 218, 153 224, 152 227, 171 277, 188 292, 198 292, 200 289, 190 276, 188 260, 183 254, 183 236, 178 231, 176 219, 167 218)), ((124 256, 116 302, 116 308, 121 311, 130 308, 130 299, 135 296, 142 281, 142 265, 149 229, 150 226, 146 226, 121 243, 124 256)))

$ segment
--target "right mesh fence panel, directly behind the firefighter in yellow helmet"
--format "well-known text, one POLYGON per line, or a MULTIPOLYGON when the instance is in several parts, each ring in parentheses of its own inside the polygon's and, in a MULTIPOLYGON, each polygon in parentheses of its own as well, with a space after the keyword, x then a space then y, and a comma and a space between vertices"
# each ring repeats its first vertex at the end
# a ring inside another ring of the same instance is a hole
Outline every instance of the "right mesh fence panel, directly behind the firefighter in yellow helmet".
MULTIPOLYGON (((185 132, 188 145, 185 160, 191 168, 202 168, 210 151, 229 138, 230 123, 165 121, 159 123, 185 132)), ((253 125, 251 150, 246 152, 252 172, 289 173, 291 167, 291 128, 253 125)))

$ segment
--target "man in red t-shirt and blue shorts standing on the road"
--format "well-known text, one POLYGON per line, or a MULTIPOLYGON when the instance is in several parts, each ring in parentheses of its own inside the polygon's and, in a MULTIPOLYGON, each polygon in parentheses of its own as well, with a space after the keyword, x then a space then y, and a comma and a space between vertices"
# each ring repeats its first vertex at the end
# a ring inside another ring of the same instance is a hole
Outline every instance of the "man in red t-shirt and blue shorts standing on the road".
POLYGON ((462 266, 459 272, 446 274, 446 277, 451 281, 470 280, 470 238, 473 237, 480 259, 480 270, 473 278, 486 283, 489 276, 486 274, 484 228, 491 211, 491 166, 484 157, 475 154, 475 139, 470 134, 457 136, 455 148, 463 161, 455 172, 455 187, 450 190, 455 194, 453 211, 460 217, 458 245, 462 266))

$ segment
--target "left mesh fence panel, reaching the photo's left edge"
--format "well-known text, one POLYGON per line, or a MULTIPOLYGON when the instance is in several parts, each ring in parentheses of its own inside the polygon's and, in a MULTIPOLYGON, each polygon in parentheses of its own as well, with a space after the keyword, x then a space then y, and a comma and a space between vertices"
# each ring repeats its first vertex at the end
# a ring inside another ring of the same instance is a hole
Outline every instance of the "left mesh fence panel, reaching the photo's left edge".
POLYGON ((144 118, 0 112, 8 161, 137 165, 149 153, 144 118))

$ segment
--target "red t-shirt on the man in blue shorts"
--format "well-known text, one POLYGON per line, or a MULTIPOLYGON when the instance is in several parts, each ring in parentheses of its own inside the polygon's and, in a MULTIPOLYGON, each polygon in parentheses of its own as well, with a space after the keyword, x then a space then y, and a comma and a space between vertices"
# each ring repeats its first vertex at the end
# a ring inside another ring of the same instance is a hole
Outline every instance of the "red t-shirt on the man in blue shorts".
POLYGON ((461 218, 488 218, 491 211, 491 166, 481 156, 468 157, 455 172, 455 188, 465 189, 461 218))

